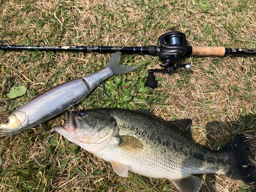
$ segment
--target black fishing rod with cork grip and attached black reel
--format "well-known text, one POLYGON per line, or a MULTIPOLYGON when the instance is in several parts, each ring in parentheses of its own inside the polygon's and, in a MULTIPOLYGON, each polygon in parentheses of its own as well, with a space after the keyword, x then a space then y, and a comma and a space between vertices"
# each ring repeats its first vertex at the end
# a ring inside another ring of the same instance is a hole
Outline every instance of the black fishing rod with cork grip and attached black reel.
POLYGON ((158 56, 163 69, 148 70, 146 86, 155 88, 157 81, 154 72, 170 73, 180 68, 191 69, 189 63, 176 64, 182 56, 224 56, 224 55, 256 55, 256 49, 228 49, 224 47, 188 46, 186 36, 179 31, 171 31, 161 35, 157 46, 148 47, 104 47, 104 46, 17 46, 0 41, 0 50, 6 51, 73 51, 84 53, 115 53, 145 54, 158 56))

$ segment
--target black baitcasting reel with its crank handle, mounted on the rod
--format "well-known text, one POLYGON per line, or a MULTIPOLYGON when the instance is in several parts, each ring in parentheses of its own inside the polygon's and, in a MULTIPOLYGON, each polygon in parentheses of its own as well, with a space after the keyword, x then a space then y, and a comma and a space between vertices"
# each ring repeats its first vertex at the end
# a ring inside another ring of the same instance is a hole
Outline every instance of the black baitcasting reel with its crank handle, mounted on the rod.
POLYGON ((157 81, 154 72, 170 73, 180 68, 191 69, 189 64, 175 65, 180 57, 187 53, 187 40, 185 34, 179 31, 172 31, 161 35, 158 39, 159 60, 163 63, 160 65, 164 69, 151 69, 148 71, 145 86, 156 88, 157 81))

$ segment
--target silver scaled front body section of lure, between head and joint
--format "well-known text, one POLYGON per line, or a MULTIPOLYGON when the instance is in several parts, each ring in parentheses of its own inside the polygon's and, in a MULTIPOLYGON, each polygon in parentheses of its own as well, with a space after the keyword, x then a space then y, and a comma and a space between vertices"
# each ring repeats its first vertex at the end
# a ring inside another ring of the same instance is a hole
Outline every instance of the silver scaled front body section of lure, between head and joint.
POLYGON ((69 81, 69 84, 60 84, 58 87, 49 90, 47 93, 35 97, 32 102, 28 102, 21 106, 13 114, 20 112, 26 113, 29 119, 28 124, 33 127, 37 122, 45 122, 52 116, 66 111, 71 106, 80 102, 88 93, 89 91, 86 84, 84 84, 81 79, 74 79, 69 81), (68 104, 62 107, 63 102, 68 104))

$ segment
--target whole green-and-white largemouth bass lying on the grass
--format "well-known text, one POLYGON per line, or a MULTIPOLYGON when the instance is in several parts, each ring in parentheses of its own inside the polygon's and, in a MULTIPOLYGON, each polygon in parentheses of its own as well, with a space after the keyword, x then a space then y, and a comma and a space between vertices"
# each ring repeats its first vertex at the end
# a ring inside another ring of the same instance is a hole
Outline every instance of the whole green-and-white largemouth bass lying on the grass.
POLYGON ((237 135, 220 151, 193 141, 190 119, 165 121, 145 113, 104 108, 67 112, 67 125, 54 130, 88 152, 109 161, 114 171, 167 178, 182 192, 196 192, 201 180, 194 174, 222 174, 255 182, 248 160, 249 142, 237 135))

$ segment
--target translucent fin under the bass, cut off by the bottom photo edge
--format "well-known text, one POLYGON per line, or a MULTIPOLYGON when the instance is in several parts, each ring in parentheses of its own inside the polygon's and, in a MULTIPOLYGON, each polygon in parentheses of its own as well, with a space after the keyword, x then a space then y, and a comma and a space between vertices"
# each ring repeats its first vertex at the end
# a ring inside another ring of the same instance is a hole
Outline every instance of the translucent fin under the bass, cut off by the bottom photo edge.
POLYGON ((202 181, 199 177, 190 175, 182 179, 169 179, 181 192, 199 192, 202 181))

